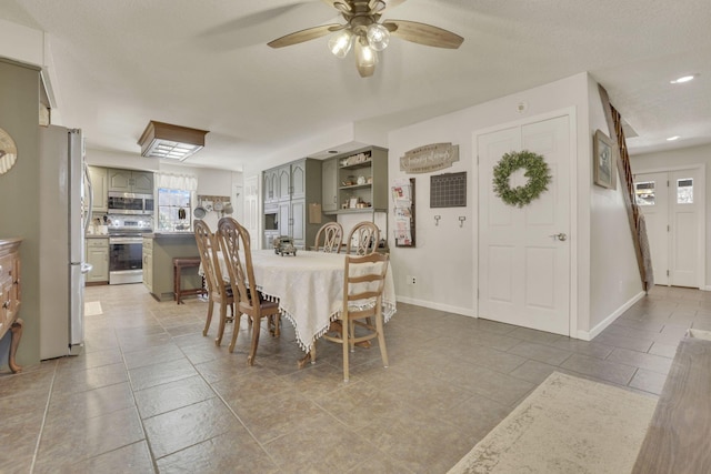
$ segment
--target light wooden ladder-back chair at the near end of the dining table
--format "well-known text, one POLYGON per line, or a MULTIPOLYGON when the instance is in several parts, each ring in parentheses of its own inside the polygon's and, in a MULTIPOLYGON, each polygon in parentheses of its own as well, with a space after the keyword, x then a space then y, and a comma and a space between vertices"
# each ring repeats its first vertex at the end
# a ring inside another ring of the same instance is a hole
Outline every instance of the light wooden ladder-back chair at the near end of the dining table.
POLYGON ((343 382, 349 380, 349 352, 356 344, 378 339, 382 366, 388 367, 388 350, 383 334, 382 292, 388 272, 388 254, 346 255, 343 273, 343 304, 337 321, 339 331, 329 332, 323 339, 343 346, 343 382), (374 319, 374 324, 371 323, 374 319), (361 329, 361 334, 356 329, 361 329))

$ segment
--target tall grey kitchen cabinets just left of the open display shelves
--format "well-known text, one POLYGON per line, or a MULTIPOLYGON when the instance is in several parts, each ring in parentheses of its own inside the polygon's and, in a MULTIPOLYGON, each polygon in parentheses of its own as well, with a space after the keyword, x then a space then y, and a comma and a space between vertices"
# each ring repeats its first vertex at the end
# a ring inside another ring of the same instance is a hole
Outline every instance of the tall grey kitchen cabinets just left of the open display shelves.
POLYGON ((321 204, 321 164, 320 160, 306 158, 263 172, 266 249, 272 245, 273 231, 293 238, 297 249, 306 249, 322 221, 333 219, 319 215, 313 222, 309 220, 309 206, 321 204))

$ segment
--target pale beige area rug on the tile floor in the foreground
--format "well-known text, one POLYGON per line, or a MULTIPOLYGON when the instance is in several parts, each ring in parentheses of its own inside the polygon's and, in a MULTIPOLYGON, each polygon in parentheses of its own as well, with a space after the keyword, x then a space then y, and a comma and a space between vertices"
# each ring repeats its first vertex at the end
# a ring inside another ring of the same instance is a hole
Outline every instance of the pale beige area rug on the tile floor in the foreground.
POLYGON ((657 399, 553 372, 449 474, 629 473, 657 399))

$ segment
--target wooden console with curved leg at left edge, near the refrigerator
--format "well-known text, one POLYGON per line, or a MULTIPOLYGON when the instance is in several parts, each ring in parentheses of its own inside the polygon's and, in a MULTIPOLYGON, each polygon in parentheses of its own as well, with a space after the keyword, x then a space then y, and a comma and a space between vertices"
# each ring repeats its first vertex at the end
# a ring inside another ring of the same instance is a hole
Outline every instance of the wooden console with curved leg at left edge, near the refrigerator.
POLYGON ((11 333, 8 365, 13 373, 22 371, 14 355, 22 336, 20 311, 20 243, 21 239, 0 239, 0 339, 11 333))

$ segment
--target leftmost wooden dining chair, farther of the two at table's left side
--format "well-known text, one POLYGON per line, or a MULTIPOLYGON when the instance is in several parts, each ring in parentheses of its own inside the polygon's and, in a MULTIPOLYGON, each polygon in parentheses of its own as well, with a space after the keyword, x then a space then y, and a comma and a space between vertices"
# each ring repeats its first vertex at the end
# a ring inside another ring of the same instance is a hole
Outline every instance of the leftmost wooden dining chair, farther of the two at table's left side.
POLYGON ((212 234, 210 226, 202 220, 194 220, 192 228, 194 229, 198 252, 200 252, 200 263, 202 264, 202 272, 208 286, 208 317, 204 322, 202 335, 208 335, 208 330, 212 322, 214 303, 220 304, 220 325, 218 326, 218 336, 214 339, 214 344, 220 345, 222 343, 222 335, 224 334, 224 326, 228 321, 228 306, 230 306, 231 319, 234 319, 234 297, 232 296, 232 288, 229 284, 226 284, 222 279, 222 272, 220 271, 220 265, 216 255, 216 252, 219 250, 217 236, 212 234))

